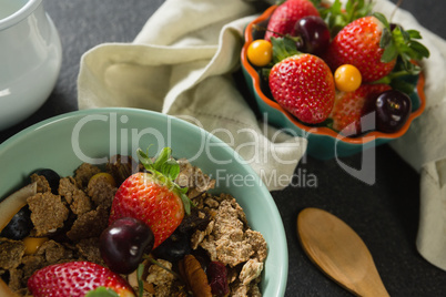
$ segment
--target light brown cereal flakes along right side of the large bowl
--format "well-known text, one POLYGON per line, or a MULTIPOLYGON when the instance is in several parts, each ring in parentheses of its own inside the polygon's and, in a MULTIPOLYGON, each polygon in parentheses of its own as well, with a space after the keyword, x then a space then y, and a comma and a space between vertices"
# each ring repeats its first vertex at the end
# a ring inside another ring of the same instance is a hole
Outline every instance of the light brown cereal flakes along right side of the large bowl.
POLYGON ((231 296, 262 296, 257 285, 267 254, 262 234, 250 228, 245 213, 231 195, 203 194, 194 202, 212 219, 205 231, 192 235, 192 248, 203 248, 211 260, 226 265, 231 296))

